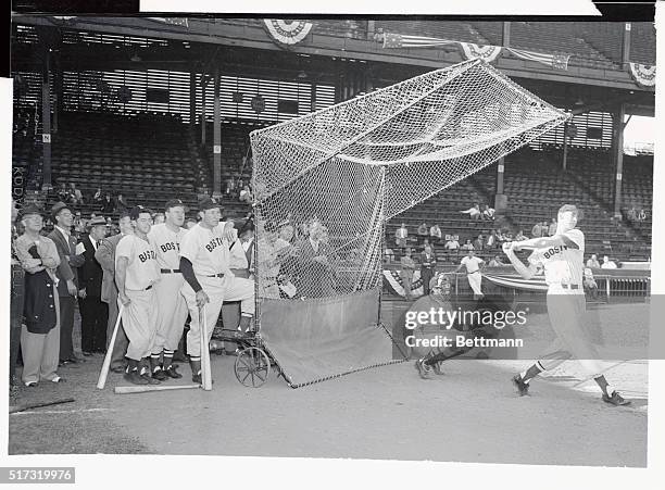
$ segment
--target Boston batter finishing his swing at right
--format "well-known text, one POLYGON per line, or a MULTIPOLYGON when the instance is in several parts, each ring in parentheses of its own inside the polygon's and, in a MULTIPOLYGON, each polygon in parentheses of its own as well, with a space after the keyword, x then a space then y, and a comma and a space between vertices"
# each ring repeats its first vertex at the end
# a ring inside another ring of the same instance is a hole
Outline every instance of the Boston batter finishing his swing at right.
POLYGON ((575 228, 578 217, 579 211, 575 205, 563 205, 559 210, 555 235, 503 244, 503 251, 524 278, 528 279, 538 268, 544 268, 548 315, 556 334, 556 339, 542 357, 527 370, 516 375, 513 382, 520 395, 528 394, 529 382, 534 377, 556 367, 567 359, 575 357, 589 375, 593 376, 602 390, 603 401, 613 405, 626 405, 630 402, 622 398, 600 374, 598 354, 581 325, 586 310, 582 288, 585 236, 575 228), (534 249, 528 266, 515 255, 515 251, 522 249, 534 249))

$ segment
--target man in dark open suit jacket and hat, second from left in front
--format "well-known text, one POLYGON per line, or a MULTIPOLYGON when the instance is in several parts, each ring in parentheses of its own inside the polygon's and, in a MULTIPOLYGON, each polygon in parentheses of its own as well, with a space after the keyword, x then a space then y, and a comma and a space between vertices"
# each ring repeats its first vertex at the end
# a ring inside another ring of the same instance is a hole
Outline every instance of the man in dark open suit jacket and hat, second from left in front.
POLYGON ((74 309, 78 294, 77 267, 85 259, 76 254, 76 238, 72 236, 74 214, 67 204, 58 202, 51 209, 51 218, 55 226, 48 238, 53 240, 60 255, 57 277, 58 296, 60 298, 60 363, 75 364, 79 362, 74 355, 72 330, 74 329, 74 309))

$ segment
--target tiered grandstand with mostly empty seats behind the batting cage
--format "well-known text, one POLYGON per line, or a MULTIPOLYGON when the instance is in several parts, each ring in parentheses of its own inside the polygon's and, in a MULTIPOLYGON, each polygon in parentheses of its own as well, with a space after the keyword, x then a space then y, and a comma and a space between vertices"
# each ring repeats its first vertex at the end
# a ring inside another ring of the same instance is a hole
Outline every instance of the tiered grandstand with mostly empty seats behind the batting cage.
MULTIPOLYGON (((15 15, 12 71, 20 84, 12 165, 26 176, 25 190, 51 204, 52 188, 75 183, 85 196, 101 187, 154 208, 177 196, 192 211, 198 194, 214 192, 230 215, 244 215, 250 208, 224 190, 228 178, 251 177, 251 130, 464 60, 454 47, 381 49, 386 33, 429 36, 570 55, 567 71, 511 54, 494 65, 548 102, 574 111, 576 134, 564 141, 564 128, 556 128, 506 156, 501 192, 495 163, 407 210, 388 223, 388 246, 401 223, 412 235, 421 223, 436 223, 462 241, 494 225, 528 234, 563 202, 577 202, 585 210, 590 253, 619 261, 650 257, 653 156, 622 158, 617 194, 615 135, 619 105, 626 114, 653 111, 653 87, 637 84, 628 72, 631 62, 655 63, 653 24, 632 23, 626 30, 624 23, 602 22, 311 23, 304 40, 286 50, 260 18, 178 23, 15 15), (46 145, 42 133, 51 137, 46 145), (497 194, 507 204, 498 206, 495 224, 460 214, 474 202, 494 205, 497 194), (630 206, 644 209, 648 218, 626 219, 630 206), (624 214, 617 218, 618 213, 624 214)), ((81 211, 89 214, 95 206, 86 203, 81 211)))

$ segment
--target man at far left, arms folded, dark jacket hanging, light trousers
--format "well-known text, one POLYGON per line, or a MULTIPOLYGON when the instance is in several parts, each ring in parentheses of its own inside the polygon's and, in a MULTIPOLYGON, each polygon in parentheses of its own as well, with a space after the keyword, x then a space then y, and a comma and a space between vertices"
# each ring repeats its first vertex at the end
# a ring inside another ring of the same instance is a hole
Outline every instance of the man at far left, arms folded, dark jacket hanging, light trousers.
POLYGON ((14 250, 25 269, 25 325, 21 328, 23 356, 22 381, 26 387, 39 381, 62 382, 58 375, 60 325, 55 268, 60 255, 55 243, 42 237, 40 211, 27 205, 22 212, 24 234, 14 241, 14 250))

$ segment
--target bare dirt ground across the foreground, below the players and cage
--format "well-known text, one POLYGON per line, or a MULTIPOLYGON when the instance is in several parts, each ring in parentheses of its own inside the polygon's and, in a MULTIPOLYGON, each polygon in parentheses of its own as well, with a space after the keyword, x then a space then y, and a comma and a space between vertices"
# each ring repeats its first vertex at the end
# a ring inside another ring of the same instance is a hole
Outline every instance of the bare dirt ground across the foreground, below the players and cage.
MULTIPOLYGON (((612 367, 617 388, 635 400, 613 407, 573 366, 534 381, 532 395, 519 398, 510 376, 523 361, 452 361, 434 380, 402 363, 292 390, 274 374, 262 388, 242 387, 234 360, 213 355, 212 392, 117 395, 121 375, 95 388, 101 356, 62 368, 66 384, 21 388, 13 403, 76 401, 10 415, 9 453, 647 465, 647 363, 612 367)), ((189 384, 189 368, 180 368, 187 376, 166 382, 189 384)))

